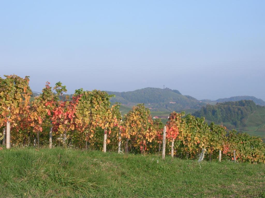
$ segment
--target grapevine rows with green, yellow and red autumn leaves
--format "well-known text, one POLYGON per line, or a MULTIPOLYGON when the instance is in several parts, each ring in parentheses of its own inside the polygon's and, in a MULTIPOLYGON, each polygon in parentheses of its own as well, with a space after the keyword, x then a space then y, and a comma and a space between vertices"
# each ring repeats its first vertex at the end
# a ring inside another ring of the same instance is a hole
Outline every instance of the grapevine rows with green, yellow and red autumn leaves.
MULTIPOLYGON (((67 100, 63 97, 66 91, 61 82, 53 88, 46 82, 42 93, 32 99, 29 77, 0 78, 2 144, 7 148, 48 145, 104 150, 107 143, 107 149, 112 151, 161 152, 164 125, 160 119, 153 120, 143 104, 134 106, 122 117, 119 104, 111 106, 112 95, 105 91, 80 88, 67 100)), ((238 105, 255 108, 246 103, 238 105)), ((171 154, 173 145, 172 155, 180 158, 196 159, 199 153, 207 151, 206 159, 217 159, 222 150, 224 158, 233 160, 236 150, 238 161, 265 163, 261 140, 213 122, 208 124, 204 117, 185 116, 184 112, 172 112, 166 124, 166 153, 171 154)))

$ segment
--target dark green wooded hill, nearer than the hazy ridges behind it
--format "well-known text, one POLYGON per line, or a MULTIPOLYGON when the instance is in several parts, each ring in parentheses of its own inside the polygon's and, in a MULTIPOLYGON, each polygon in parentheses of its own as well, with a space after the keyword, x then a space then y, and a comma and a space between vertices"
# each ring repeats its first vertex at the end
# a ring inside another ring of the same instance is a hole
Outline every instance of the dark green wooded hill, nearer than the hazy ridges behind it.
POLYGON ((193 115, 205 117, 208 121, 215 123, 230 122, 235 127, 245 126, 248 117, 261 106, 256 105, 252 100, 241 100, 235 102, 217 103, 206 105, 193 115))

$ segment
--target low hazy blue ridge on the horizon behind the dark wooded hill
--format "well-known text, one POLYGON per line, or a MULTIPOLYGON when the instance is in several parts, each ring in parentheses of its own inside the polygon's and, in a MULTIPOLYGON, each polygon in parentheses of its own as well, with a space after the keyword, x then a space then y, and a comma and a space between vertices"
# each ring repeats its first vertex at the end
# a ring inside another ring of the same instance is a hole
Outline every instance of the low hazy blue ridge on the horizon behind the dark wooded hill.
POLYGON ((260 98, 256 98, 254 96, 233 96, 230 98, 219 98, 217 100, 201 100, 202 102, 205 103, 221 103, 221 102, 235 102, 235 101, 240 101, 240 100, 252 100, 253 102, 256 103, 256 105, 260 106, 265 106, 265 101, 263 101, 260 98))

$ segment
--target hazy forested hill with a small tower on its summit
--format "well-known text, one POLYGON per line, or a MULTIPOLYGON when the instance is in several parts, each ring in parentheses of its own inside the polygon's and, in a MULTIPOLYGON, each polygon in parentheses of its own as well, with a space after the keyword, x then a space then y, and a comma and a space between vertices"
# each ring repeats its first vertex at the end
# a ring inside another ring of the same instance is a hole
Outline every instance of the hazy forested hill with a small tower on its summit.
POLYGON ((151 111, 182 111, 185 109, 200 109, 206 103, 198 101, 191 96, 184 96, 178 90, 169 88, 143 88, 128 92, 112 92, 116 97, 111 98, 111 102, 145 103, 151 111))

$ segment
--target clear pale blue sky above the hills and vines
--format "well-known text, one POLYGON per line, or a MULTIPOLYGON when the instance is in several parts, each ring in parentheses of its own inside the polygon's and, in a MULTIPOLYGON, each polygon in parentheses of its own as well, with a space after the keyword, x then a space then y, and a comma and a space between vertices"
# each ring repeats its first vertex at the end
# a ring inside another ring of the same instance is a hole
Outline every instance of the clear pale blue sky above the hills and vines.
POLYGON ((41 91, 265 100, 265 1, 1 1, 0 67, 41 91))

